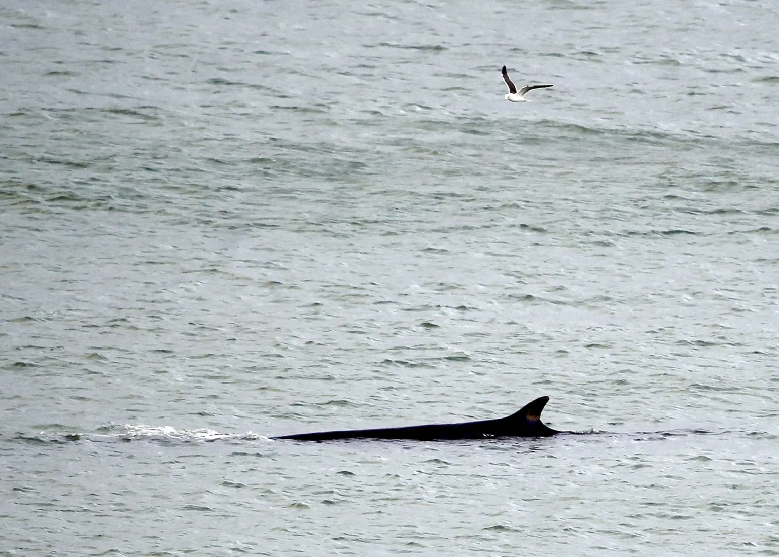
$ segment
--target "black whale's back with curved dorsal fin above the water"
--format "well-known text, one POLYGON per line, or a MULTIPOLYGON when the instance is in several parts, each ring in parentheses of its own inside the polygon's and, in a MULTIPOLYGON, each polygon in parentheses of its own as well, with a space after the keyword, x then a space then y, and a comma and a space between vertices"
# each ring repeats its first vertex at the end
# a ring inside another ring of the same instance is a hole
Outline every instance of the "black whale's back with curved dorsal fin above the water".
POLYGON ((407 425, 400 428, 345 429, 334 432, 278 435, 270 439, 333 441, 336 439, 411 439, 452 441, 456 439, 499 439, 502 437, 551 437, 558 433, 541 421, 549 397, 538 397, 506 418, 464 421, 456 424, 407 425))

